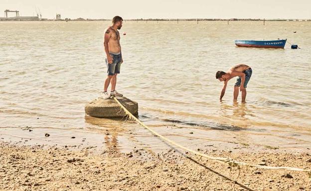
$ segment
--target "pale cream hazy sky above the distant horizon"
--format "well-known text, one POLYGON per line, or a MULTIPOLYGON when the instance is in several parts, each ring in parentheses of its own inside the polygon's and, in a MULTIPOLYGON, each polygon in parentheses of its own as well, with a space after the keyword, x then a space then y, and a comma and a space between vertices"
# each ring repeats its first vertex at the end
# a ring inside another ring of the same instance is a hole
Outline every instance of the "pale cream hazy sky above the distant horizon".
MULTIPOLYGON (((311 19, 311 0, 0 0, 0 10, 42 18, 301 18, 311 19)), ((10 13, 9 16, 14 16, 10 13)))

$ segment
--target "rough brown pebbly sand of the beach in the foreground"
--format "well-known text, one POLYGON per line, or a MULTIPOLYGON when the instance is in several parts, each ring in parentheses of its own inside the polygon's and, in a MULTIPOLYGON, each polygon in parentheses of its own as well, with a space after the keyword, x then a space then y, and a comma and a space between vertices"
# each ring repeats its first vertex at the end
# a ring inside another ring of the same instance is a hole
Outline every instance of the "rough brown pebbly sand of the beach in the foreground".
MULTIPOLYGON (((311 169, 311 151, 237 152, 199 149, 251 164, 311 169)), ((306 172, 264 170, 197 157, 182 150, 157 153, 133 147, 24 145, 0 139, 1 191, 310 191, 306 172), (289 175, 287 175, 289 174, 289 175), (238 178, 237 178, 238 177, 238 178)))

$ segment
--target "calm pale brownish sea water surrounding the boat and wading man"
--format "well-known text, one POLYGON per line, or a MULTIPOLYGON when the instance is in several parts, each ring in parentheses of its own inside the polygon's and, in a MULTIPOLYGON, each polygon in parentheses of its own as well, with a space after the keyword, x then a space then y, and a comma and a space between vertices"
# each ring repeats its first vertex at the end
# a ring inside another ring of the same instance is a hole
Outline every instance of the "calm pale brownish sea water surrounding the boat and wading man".
MULTIPOLYGON (((100 129, 133 124, 85 118, 106 77, 110 22, 0 22, 0 127, 100 129)), ((262 132, 311 141, 311 22, 124 22, 117 90, 152 127, 262 132), (294 33, 297 31, 297 33, 294 33), (285 49, 238 48, 234 40, 288 39, 285 49), (290 43, 302 49, 291 50, 290 43), (247 104, 233 103, 217 70, 248 64, 247 104)), ((139 126, 137 126, 139 128, 139 126)), ((230 134, 228 132, 228 134, 230 134)), ((247 134, 247 135, 245 135, 247 134)), ((175 134, 176 135, 176 134, 175 134)), ((217 136, 222 136, 220 133, 217 136)), ((266 139, 261 139, 267 141, 266 139)), ((296 141, 296 143, 297 143, 296 141)))

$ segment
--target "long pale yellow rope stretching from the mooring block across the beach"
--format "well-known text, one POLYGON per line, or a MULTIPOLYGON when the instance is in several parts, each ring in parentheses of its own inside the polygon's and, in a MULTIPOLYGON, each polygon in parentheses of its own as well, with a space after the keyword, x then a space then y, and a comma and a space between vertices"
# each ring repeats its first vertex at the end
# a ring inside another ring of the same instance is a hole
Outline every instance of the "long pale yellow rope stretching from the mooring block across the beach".
POLYGON ((182 148, 186 151, 189 151, 190 153, 211 159, 211 160, 215 160, 217 162, 220 163, 227 163, 229 166, 238 166, 238 165, 242 165, 242 166, 249 166, 249 167, 256 167, 256 168, 261 168, 261 169, 275 169, 275 170, 290 170, 290 171, 304 171, 304 172, 308 172, 311 175, 311 170, 307 170, 307 169, 301 169, 301 168, 295 168, 295 167, 273 167, 273 166, 261 166, 261 165, 254 165, 254 164, 248 164, 245 162, 239 162, 236 161, 232 158, 224 158, 224 157, 213 157, 207 154, 203 154, 200 152, 197 152, 195 150, 189 149, 187 147, 184 147, 168 138, 165 138, 164 136, 160 135, 159 133, 155 132, 153 129, 151 129, 150 127, 146 126, 143 122, 141 122, 139 119, 137 119, 133 114, 131 114, 120 102, 119 100, 114 97, 115 101, 120 105, 120 107, 124 110, 124 112, 132 119, 134 119, 137 123, 139 123, 141 126, 147 128, 148 130, 150 130, 152 133, 154 133, 156 136, 158 136, 159 138, 161 138, 162 140, 169 142, 172 145, 175 145, 179 148, 182 148))

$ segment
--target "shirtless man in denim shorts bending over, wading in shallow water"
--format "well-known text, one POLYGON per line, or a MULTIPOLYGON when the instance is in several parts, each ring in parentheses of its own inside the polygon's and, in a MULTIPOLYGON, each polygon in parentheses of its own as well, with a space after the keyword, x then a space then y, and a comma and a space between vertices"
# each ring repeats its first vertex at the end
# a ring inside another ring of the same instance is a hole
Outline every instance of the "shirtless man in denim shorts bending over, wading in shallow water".
POLYGON ((240 87, 240 91, 242 92, 242 103, 245 103, 245 98, 246 98, 245 88, 247 86, 248 81, 250 80, 252 76, 252 68, 245 64, 237 64, 231 67, 227 72, 224 72, 224 71, 216 72, 216 79, 219 79, 219 81, 224 82, 224 86, 220 94, 220 101, 222 97, 225 95, 228 81, 235 76, 239 76, 239 77, 236 83, 234 84, 233 100, 237 101, 238 95, 239 95, 239 87, 240 87))

